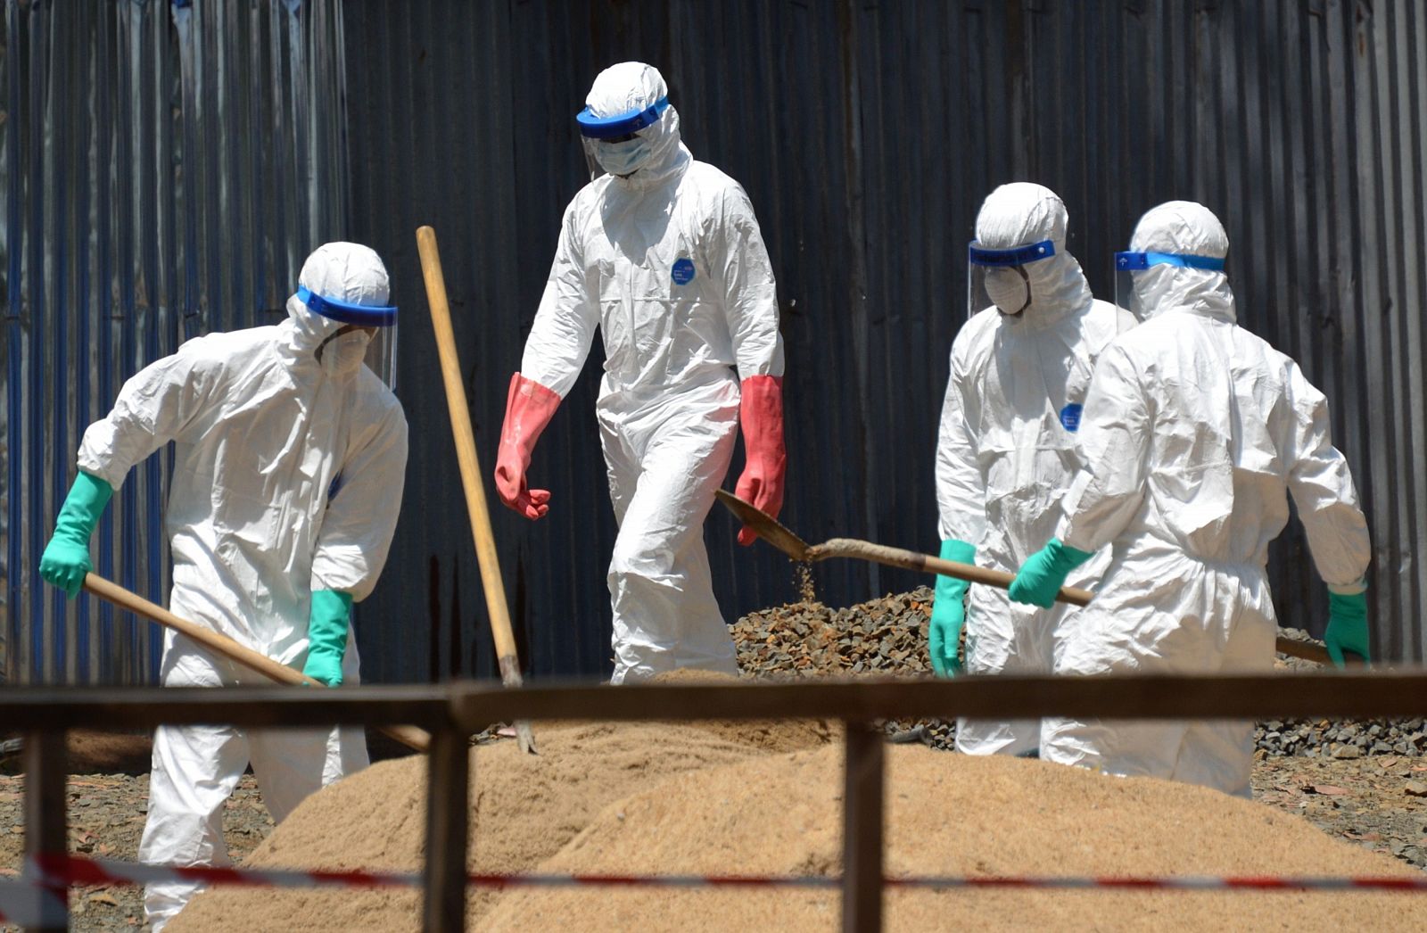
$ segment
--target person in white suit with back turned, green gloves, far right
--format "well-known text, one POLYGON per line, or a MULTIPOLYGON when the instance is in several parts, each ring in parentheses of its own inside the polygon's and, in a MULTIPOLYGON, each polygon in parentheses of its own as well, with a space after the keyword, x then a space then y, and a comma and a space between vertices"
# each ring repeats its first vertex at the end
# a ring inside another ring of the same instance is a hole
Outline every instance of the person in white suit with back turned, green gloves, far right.
MULTIPOLYGON (((1162 204, 1116 265, 1144 322, 1100 354, 1080 418, 1083 471, 1057 538, 1010 598, 1049 605, 1110 545, 1095 601, 1067 618, 1057 673, 1250 673, 1273 666, 1269 542, 1293 494, 1329 585, 1329 651, 1364 658, 1371 555, 1329 407, 1297 364, 1234 324, 1229 237, 1207 208, 1162 204)), ((1046 719, 1042 755, 1249 796, 1250 722, 1046 719)))

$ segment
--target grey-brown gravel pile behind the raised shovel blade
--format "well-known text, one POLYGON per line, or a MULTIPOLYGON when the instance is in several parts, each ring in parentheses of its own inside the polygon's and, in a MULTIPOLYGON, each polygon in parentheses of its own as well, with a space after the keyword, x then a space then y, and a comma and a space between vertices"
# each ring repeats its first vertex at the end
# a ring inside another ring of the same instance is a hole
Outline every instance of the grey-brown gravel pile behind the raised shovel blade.
MULTIPOLYGON (((933 591, 919 586, 909 593, 893 593, 845 609, 805 599, 752 612, 732 626, 738 665, 745 676, 929 675, 926 628, 932 599, 933 591)), ((1313 641, 1297 629, 1284 629, 1283 633, 1313 641)), ((1290 671, 1319 668, 1296 658, 1280 658, 1277 666, 1290 671)), ((893 740, 950 748, 956 723, 889 720, 886 732, 893 740)), ((1427 719, 1270 719, 1259 723, 1254 742, 1259 758, 1418 756, 1427 755, 1427 719)))

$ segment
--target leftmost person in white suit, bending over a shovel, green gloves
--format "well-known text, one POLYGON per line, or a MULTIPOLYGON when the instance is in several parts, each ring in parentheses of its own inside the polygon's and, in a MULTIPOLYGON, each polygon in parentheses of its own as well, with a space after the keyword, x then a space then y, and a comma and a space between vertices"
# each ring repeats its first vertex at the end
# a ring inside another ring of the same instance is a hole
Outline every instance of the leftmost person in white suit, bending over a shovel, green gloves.
MULTIPOLYGON (((173 441, 170 609, 324 683, 355 683, 348 613, 387 561, 407 462, 401 404, 364 365, 394 345, 387 295, 374 251, 330 243, 303 265, 285 321, 191 340, 128 379, 84 432, 44 578, 78 591, 104 504, 134 464, 173 441)), ((160 676, 164 686, 267 682, 173 631, 160 676)), ((161 726, 140 862, 225 865, 223 805, 250 763, 281 822, 365 768, 367 748, 360 728, 161 726)), ((153 929, 197 890, 150 884, 153 929)))

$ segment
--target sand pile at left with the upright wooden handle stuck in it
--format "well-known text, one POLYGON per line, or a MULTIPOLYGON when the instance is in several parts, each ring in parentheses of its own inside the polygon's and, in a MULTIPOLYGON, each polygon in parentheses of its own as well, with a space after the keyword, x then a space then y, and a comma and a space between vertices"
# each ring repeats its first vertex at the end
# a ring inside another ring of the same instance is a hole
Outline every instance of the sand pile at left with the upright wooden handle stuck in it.
MULTIPOLYGON (((471 870, 531 870, 606 805, 668 778, 751 758, 828 746, 818 722, 535 723, 539 755, 514 742, 471 752, 471 870)), ((382 762, 313 795, 245 860, 250 867, 420 870, 425 759, 382 762)), ((498 894, 475 892, 474 924, 498 894)), ((415 890, 241 890, 197 897, 174 933, 217 930, 415 930, 415 890)))

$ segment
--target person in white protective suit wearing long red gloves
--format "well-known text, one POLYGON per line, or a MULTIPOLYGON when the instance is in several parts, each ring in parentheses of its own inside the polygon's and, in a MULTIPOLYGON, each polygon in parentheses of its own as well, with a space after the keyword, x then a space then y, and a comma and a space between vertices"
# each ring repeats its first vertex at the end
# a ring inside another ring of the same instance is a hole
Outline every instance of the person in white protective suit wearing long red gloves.
MULTIPOLYGON (((519 371, 495 485, 527 518, 549 509, 525 471, 598 327, 595 415, 619 535, 609 562, 614 683, 675 668, 736 672, 714 598, 704 519, 743 428, 736 494, 783 498, 783 345, 773 272, 748 195, 679 141, 651 66, 599 73, 577 117, 594 180, 565 210, 519 371), (602 174, 601 174, 602 173, 602 174), (733 375, 738 368, 738 377, 733 375)), ((742 544, 752 544, 745 528, 742 544)))

